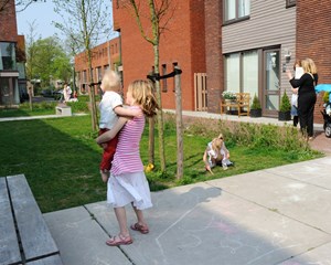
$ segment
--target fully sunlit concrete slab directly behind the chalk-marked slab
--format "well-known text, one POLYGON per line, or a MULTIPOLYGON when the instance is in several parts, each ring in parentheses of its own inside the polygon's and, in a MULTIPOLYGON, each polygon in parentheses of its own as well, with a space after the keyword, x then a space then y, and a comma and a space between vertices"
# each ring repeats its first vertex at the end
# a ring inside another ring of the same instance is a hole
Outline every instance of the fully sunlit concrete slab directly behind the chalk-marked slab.
MULTIPOLYGON (((302 168, 305 169, 303 165, 302 168)), ((207 183, 331 233, 331 190, 295 178, 282 177, 280 171, 280 168, 275 172, 261 170, 235 178, 212 180, 207 183)), ((286 174, 286 171, 284 172, 286 174)), ((316 173, 319 174, 318 171, 316 173)), ((303 174, 302 171, 301 176, 303 174)))

